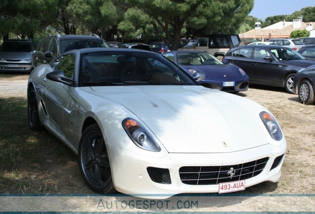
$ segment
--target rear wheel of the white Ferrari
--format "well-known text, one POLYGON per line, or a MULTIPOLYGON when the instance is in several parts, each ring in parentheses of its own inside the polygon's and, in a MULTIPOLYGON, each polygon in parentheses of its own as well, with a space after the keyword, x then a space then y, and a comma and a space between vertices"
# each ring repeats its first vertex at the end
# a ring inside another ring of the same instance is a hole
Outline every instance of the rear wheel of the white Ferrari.
POLYGON ((39 119, 37 101, 36 101, 36 92, 34 87, 30 88, 27 101, 27 115, 28 115, 28 124, 32 130, 41 130, 42 124, 39 119))

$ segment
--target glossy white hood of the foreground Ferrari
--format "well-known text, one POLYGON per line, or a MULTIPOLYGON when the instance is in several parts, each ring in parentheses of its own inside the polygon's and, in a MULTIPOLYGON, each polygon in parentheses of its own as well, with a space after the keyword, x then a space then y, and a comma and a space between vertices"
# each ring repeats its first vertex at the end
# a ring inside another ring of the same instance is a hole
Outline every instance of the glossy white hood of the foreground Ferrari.
MULTIPOLYGON (((202 86, 92 87, 128 108, 169 153, 224 153, 268 143, 259 104, 202 86)), ((269 136, 268 136, 269 137, 269 136)))

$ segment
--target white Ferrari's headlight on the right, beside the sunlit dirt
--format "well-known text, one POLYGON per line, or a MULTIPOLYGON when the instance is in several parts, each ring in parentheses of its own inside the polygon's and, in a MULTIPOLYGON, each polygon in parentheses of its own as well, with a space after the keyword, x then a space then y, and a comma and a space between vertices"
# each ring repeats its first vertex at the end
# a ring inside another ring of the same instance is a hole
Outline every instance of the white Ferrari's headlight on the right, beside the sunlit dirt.
POLYGON ((260 117, 266 129, 268 130, 273 140, 279 141, 282 139, 282 132, 277 121, 266 111, 260 113, 260 117))

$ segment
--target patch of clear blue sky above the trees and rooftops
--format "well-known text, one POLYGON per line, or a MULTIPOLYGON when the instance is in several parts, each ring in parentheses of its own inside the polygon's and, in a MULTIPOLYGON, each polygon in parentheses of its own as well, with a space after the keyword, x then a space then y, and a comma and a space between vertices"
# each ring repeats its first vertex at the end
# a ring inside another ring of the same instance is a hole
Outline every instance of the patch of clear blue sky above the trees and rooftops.
POLYGON ((274 15, 290 15, 307 6, 315 6, 315 0, 254 0, 254 8, 249 15, 265 20, 274 15))

